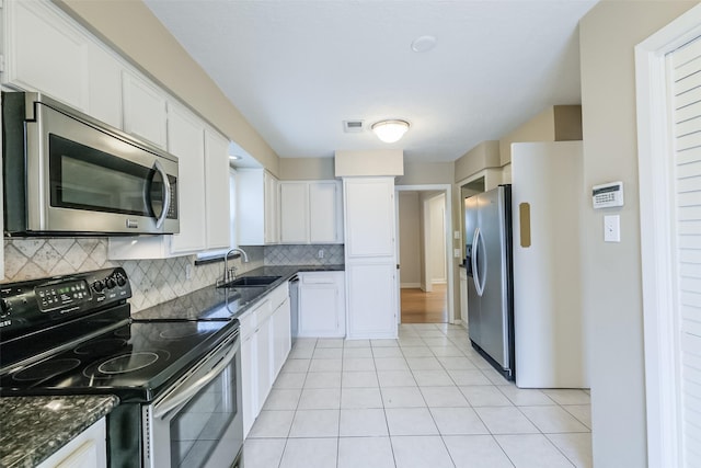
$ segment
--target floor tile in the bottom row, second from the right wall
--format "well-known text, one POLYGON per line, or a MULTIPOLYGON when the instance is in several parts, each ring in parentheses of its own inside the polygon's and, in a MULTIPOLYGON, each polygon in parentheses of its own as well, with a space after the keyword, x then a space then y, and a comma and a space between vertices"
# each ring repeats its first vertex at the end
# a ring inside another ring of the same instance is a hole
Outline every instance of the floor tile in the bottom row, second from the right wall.
POLYGON ((516 468, 572 468, 570 460, 542 434, 495 438, 516 468))

